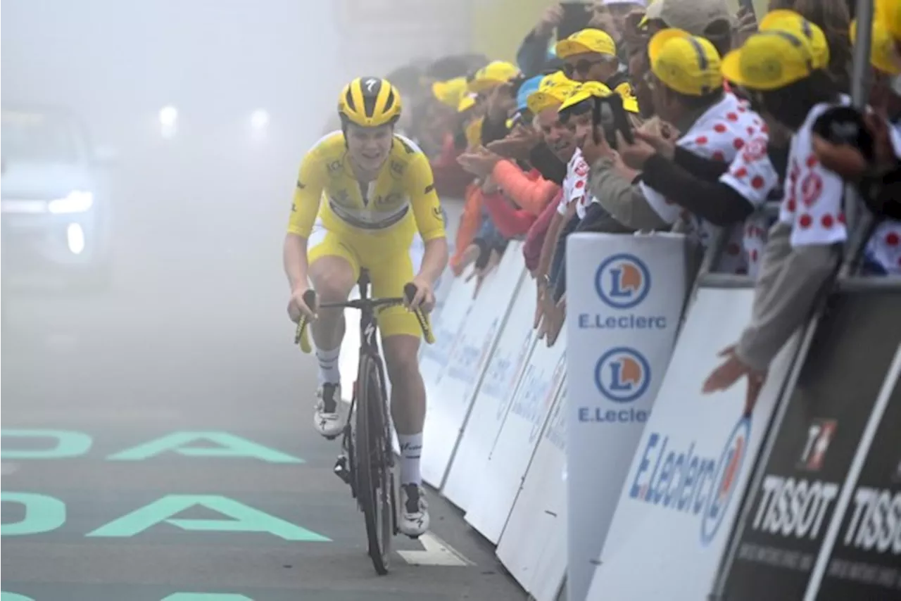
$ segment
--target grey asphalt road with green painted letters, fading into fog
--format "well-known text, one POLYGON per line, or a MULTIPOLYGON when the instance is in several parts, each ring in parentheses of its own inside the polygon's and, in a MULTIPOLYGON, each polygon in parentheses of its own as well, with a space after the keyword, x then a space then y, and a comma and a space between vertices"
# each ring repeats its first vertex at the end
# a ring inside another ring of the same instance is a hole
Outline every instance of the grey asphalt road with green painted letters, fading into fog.
POLYGON ((0 601, 524 598, 434 494, 431 549, 398 537, 420 552, 375 574, 336 442, 312 429, 278 243, 160 244, 108 294, 13 303, 0 601))

